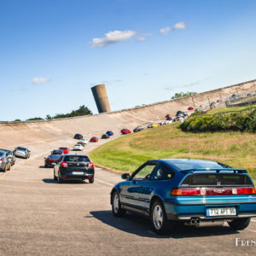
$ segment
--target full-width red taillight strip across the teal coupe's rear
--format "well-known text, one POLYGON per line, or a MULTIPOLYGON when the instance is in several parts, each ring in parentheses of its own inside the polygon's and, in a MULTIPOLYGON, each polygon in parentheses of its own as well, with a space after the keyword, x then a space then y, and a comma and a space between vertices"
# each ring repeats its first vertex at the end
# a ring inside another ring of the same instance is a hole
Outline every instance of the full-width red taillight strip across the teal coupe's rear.
POLYGON ((256 189, 247 188, 177 188, 171 195, 256 195, 256 189))

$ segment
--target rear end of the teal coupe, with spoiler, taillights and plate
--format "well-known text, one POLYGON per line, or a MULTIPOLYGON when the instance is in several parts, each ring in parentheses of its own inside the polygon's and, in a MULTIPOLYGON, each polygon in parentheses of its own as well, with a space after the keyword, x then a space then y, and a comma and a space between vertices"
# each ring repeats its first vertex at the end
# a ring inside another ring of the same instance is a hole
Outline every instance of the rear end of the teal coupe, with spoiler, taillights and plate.
POLYGON ((242 230, 256 217, 256 190, 246 170, 201 168, 180 174, 181 182, 164 200, 167 219, 195 226, 227 221, 242 230))

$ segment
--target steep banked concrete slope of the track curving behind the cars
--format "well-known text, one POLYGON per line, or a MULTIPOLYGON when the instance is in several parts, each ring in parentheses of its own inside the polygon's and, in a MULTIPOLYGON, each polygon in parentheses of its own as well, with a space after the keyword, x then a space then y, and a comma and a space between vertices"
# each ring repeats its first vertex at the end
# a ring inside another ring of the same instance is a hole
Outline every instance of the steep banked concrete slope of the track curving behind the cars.
MULTIPOLYGON (((256 80, 235 84, 218 90, 207 91, 181 99, 158 102, 141 108, 129 108, 111 113, 102 113, 73 119, 57 119, 40 122, 2 122, 0 124, 0 147, 15 148, 26 146, 32 151, 49 150, 49 143, 73 143, 73 134, 82 133, 85 137, 100 137, 102 133, 112 130, 119 134, 122 128, 133 129, 164 119, 166 113, 174 115, 177 110, 186 110, 189 106, 199 107, 219 99, 224 100, 233 93, 246 93, 256 90, 256 80), (194 102, 193 102, 194 101, 194 102), (38 149, 38 150, 35 150, 38 149)), ((64 146, 64 144, 63 144, 64 146)))

